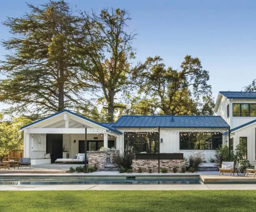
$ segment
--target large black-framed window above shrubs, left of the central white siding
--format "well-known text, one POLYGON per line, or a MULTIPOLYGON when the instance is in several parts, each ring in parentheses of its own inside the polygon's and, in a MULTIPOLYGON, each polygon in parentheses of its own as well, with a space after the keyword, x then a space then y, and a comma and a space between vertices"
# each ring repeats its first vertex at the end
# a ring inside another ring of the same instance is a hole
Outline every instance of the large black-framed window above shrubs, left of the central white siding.
POLYGON ((158 153, 158 132, 124 132, 124 148, 134 148, 136 153, 158 153))

